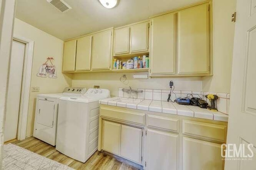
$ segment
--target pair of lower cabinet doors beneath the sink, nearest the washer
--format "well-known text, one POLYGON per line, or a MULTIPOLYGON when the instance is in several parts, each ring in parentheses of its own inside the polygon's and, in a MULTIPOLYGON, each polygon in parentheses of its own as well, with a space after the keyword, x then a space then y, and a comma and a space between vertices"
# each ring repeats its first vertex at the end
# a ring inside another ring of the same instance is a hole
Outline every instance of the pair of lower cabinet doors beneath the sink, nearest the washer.
POLYGON ((142 129, 103 121, 102 149, 141 164, 142 129))

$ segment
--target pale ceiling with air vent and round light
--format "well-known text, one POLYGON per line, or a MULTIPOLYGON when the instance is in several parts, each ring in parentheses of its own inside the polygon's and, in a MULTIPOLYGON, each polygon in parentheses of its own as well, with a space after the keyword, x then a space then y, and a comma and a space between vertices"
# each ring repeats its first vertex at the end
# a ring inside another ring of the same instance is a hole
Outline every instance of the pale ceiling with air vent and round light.
POLYGON ((98 0, 64 0, 72 7, 60 12, 46 0, 17 0, 16 18, 62 40, 78 37, 194 4, 202 0, 120 0, 112 9, 98 0))

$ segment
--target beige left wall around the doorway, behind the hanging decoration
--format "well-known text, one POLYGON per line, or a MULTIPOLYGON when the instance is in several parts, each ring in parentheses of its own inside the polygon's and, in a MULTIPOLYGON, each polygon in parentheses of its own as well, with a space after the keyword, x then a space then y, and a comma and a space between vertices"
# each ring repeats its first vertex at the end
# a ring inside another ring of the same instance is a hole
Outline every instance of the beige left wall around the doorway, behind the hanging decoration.
POLYGON ((52 35, 33 27, 21 20, 14 21, 14 35, 34 41, 34 55, 32 64, 31 86, 40 87, 40 92, 30 92, 28 122, 26 136, 31 136, 34 127, 34 114, 36 95, 42 93, 62 92, 66 86, 71 85, 70 75, 64 75, 62 70, 63 41, 52 35), (41 78, 36 76, 38 69, 47 57, 54 57, 58 78, 41 78))

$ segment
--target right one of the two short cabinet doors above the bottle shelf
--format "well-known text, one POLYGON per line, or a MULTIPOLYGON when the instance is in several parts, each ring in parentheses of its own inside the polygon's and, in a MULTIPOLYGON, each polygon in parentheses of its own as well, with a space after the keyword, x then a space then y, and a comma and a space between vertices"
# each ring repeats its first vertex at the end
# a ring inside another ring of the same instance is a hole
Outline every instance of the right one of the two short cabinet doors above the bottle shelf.
POLYGON ((130 27, 130 53, 148 51, 148 22, 130 27))

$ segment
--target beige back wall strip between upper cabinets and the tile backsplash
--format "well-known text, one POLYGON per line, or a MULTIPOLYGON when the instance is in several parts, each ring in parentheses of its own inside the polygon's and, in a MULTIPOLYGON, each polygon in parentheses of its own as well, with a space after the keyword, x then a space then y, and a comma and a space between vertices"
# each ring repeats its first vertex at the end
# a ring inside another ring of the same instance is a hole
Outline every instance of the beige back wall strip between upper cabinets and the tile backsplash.
POLYGON ((93 85, 101 85, 101 88, 110 90, 112 96, 118 96, 118 88, 148 88, 148 89, 170 89, 170 80, 174 81, 175 90, 202 90, 200 77, 193 78, 149 78, 134 79, 132 73, 89 73, 74 74, 72 86, 93 88, 93 85), (120 82, 120 77, 126 74, 128 84, 120 82))

